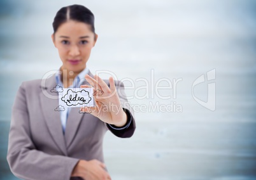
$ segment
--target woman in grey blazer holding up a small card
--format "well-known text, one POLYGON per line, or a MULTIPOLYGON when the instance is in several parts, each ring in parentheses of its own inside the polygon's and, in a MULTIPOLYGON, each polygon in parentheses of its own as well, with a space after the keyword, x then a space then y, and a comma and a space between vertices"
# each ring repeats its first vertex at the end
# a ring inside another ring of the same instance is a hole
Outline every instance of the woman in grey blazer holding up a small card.
POLYGON ((103 136, 110 130, 129 138, 136 125, 124 84, 92 75, 87 67, 97 41, 93 13, 77 4, 61 8, 53 20, 52 41, 61 73, 22 82, 13 104, 7 154, 11 172, 36 180, 111 179, 103 136), (93 87, 96 106, 58 111, 57 85, 93 87))

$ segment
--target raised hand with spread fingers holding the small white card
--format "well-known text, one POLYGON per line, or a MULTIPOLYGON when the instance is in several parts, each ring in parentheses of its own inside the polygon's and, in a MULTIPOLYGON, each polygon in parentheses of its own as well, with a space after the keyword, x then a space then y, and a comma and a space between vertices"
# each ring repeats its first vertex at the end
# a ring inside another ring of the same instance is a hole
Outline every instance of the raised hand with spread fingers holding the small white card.
MULTIPOLYGON (((110 77, 110 87, 99 76, 94 75, 90 77, 85 75, 85 79, 94 88, 94 100, 96 106, 81 108, 83 112, 91 113, 95 117, 99 118, 103 122, 113 124, 117 127, 122 127, 127 122, 127 115, 124 112, 120 103, 117 89, 115 87, 115 81, 113 77, 110 77)), ((91 87, 88 85, 82 85, 81 87, 91 87)))

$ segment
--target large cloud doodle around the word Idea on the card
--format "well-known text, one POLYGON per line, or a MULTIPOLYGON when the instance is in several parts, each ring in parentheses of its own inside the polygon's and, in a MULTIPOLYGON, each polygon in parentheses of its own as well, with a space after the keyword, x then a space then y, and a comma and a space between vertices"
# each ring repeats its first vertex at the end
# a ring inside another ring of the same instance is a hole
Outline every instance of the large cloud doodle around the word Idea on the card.
POLYGON ((67 94, 65 94, 61 98, 61 100, 64 101, 64 103, 66 103, 66 105, 68 106, 76 106, 78 104, 79 105, 88 104, 90 100, 92 100, 92 98, 90 98, 89 92, 85 91, 85 89, 77 92, 69 89, 67 91, 67 94))

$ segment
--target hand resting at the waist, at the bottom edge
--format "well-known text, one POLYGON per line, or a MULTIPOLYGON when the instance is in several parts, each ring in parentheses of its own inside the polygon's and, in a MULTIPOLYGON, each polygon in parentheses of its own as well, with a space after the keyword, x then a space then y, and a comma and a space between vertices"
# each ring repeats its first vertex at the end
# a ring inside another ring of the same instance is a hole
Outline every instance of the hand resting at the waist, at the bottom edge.
POLYGON ((104 168, 105 165, 98 160, 79 160, 71 177, 82 177, 86 180, 110 180, 110 174, 104 168))

